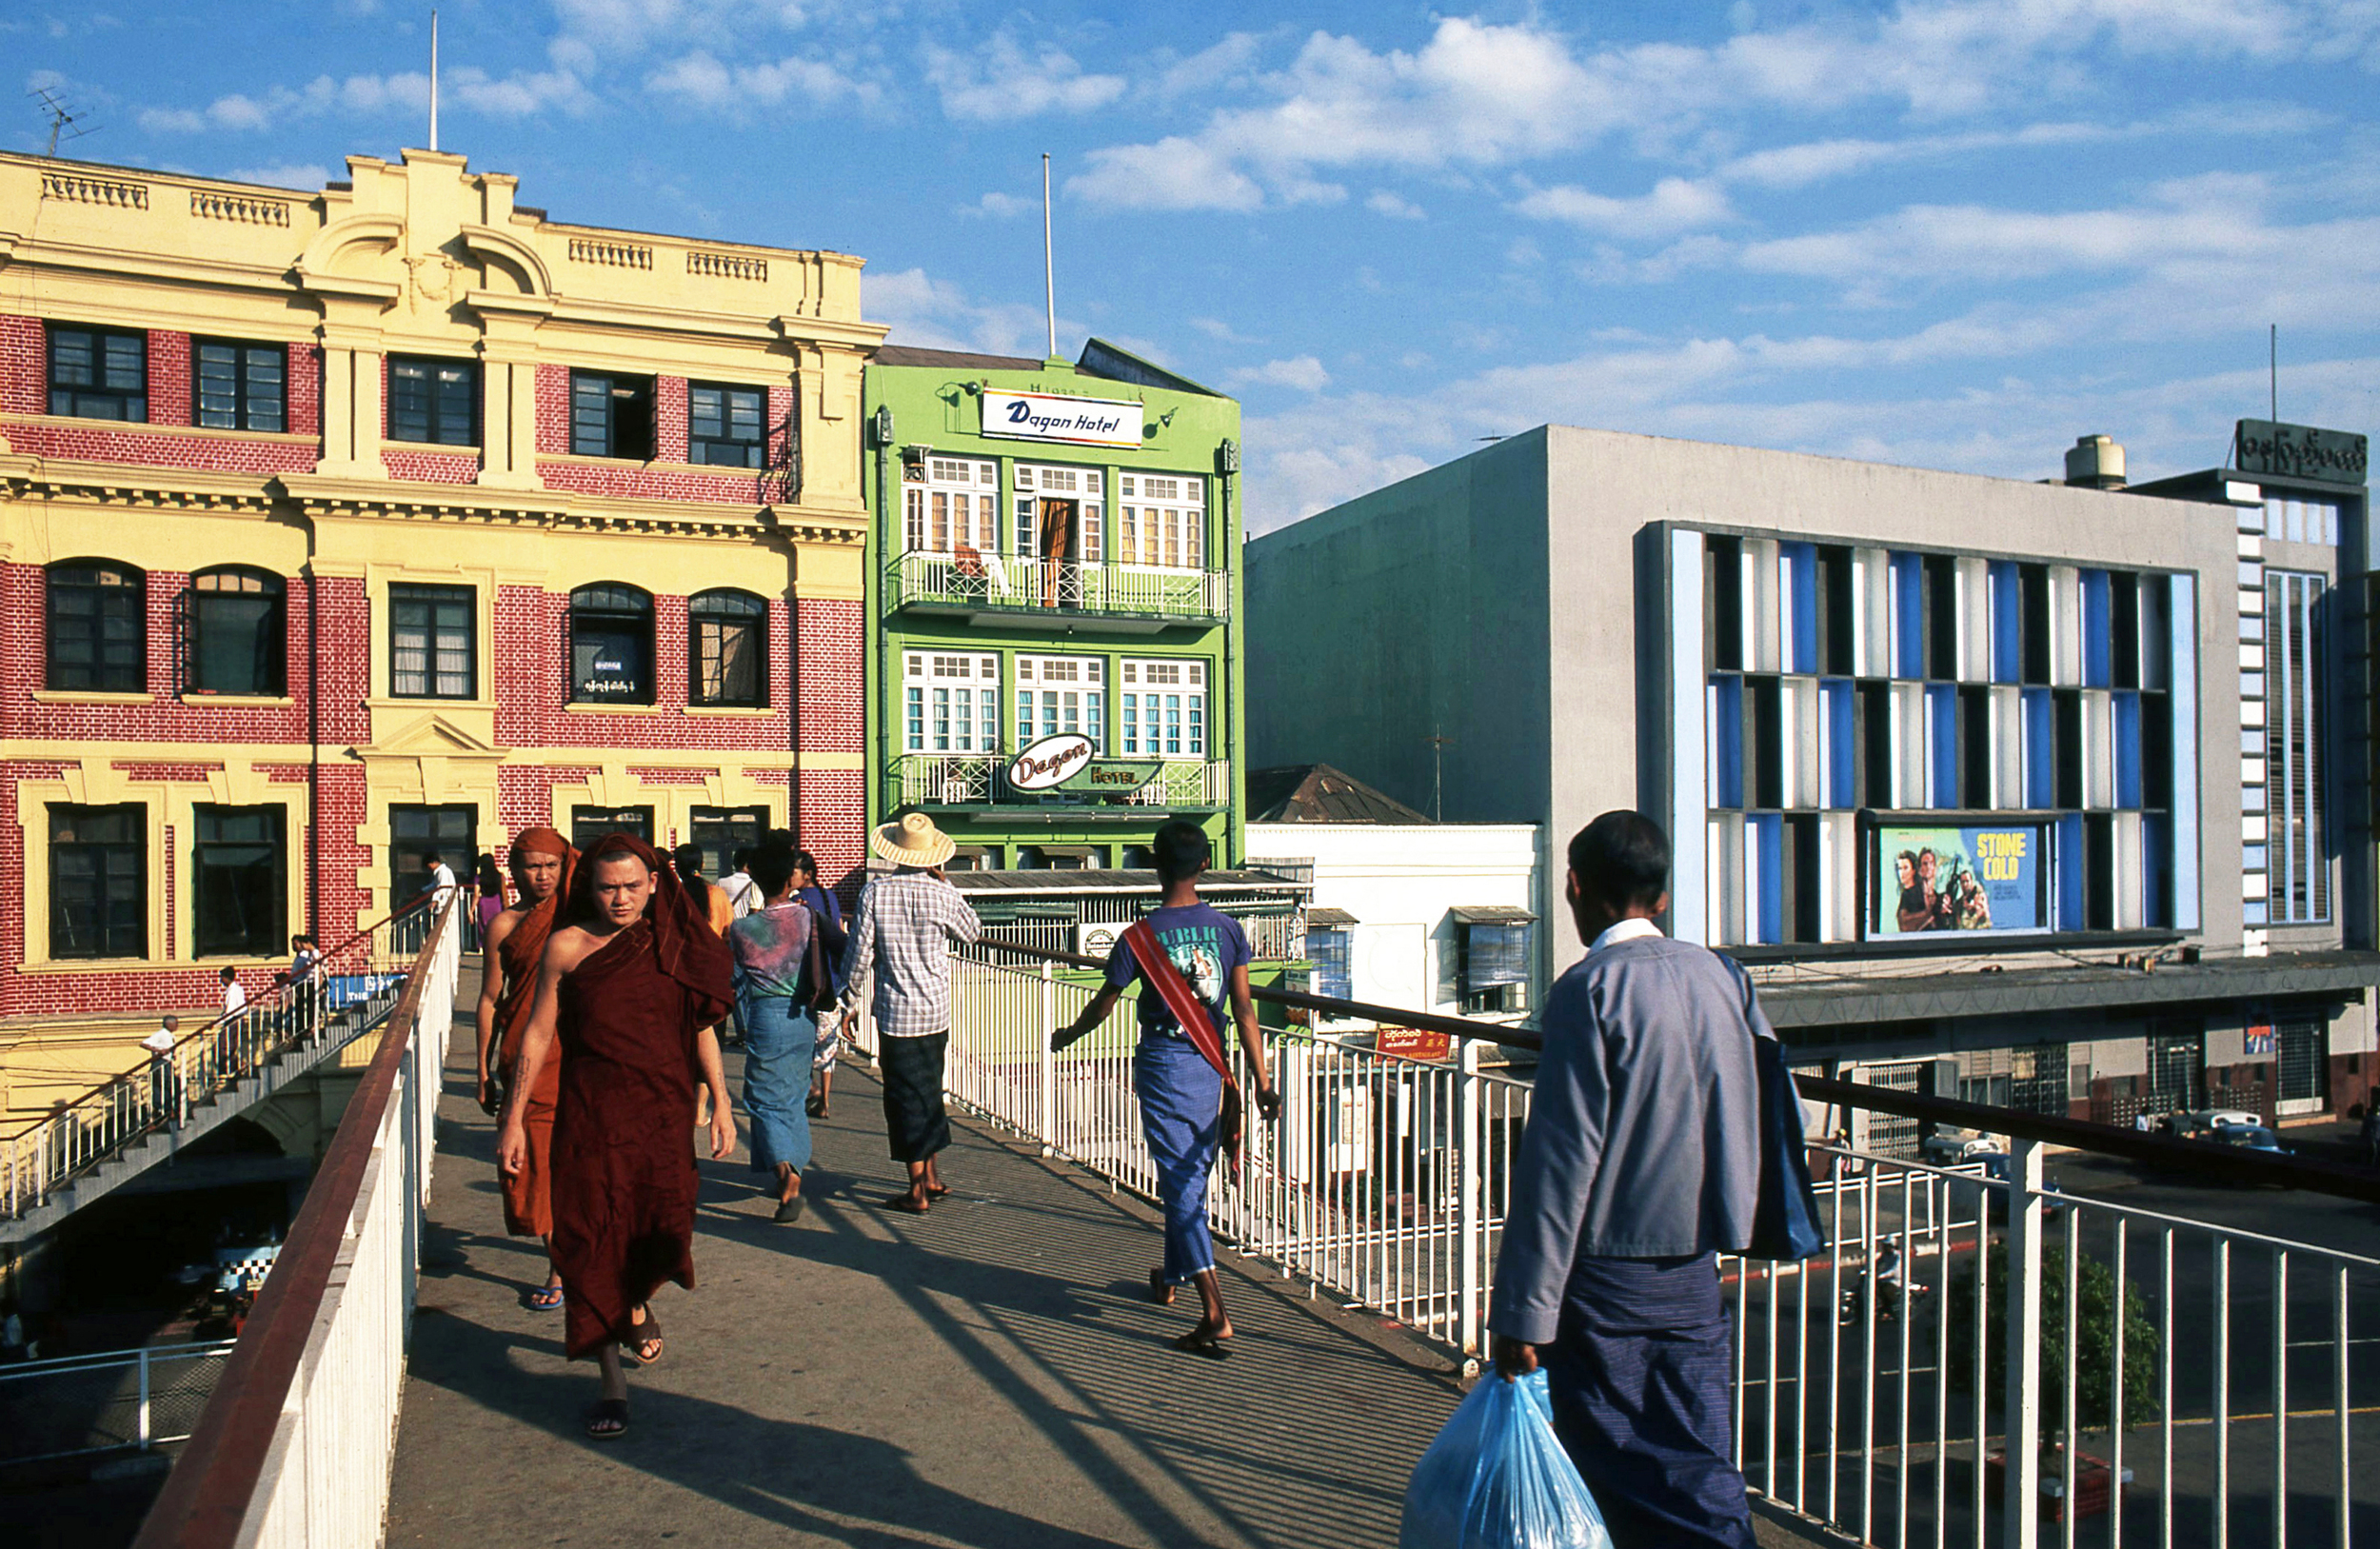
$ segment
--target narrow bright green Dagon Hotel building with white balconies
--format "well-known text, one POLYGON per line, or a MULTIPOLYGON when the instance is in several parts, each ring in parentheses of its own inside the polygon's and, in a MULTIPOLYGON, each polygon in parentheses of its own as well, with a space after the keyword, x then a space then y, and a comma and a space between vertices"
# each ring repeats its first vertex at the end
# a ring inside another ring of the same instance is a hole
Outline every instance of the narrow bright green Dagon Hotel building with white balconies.
POLYGON ((1214 890, 1280 921, 1259 957, 1295 959, 1295 890, 1230 873, 1240 405, 1090 340, 1073 364, 885 345, 864 409, 869 821, 931 814, 988 921, 1076 947, 1130 918, 1150 833, 1190 819, 1214 890))

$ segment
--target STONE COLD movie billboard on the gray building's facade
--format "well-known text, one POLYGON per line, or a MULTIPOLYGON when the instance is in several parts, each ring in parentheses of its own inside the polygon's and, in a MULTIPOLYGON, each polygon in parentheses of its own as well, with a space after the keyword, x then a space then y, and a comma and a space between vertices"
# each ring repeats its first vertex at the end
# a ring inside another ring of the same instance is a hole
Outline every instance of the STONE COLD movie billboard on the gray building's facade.
POLYGON ((1878 823, 1871 940, 2047 930, 2047 838, 2042 823, 1878 823))

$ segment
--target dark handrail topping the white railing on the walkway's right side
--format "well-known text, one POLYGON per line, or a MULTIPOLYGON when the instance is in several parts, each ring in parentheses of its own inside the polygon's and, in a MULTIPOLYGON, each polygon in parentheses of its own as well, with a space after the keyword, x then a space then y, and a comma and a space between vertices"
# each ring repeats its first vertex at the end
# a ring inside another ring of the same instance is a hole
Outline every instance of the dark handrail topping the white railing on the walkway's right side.
MULTIPOLYGON (((1019 957, 1061 964, 1069 968, 1107 968, 1104 959, 1083 957, 1081 952, 1054 952, 1050 947, 995 942, 990 937, 976 945, 997 952, 1016 952, 1019 957)), ((1535 1028, 1507 1028, 1468 1016, 1402 1011, 1397 1006, 1373 1006, 1357 999, 1335 999, 1330 995, 1307 995, 1304 990, 1276 990, 1271 985, 1250 985, 1250 995, 1276 1006, 1326 1011, 1330 1016, 1359 1016, 1395 1028, 1449 1033, 1454 1037, 1497 1042, 1514 1049, 1545 1049, 1545 1035, 1535 1028)), ((2173 1168, 2178 1173, 2221 1178, 2223 1183, 2271 1183, 2306 1190, 2309 1194, 2332 1194, 2337 1199, 2380 1204, 2380 1173, 2366 1173, 2337 1161, 2268 1156, 2244 1147, 2218 1149, 2204 1140, 2175 1140, 2171 1135, 2149 1135, 2142 1130, 2123 1130, 2111 1123, 2092 1123, 2087 1118, 2059 1118, 2052 1114, 2028 1114, 2023 1109, 2002 1109, 1983 1102, 1959 1102, 1954 1097, 1894 1092, 1864 1080, 1795 1075, 1795 1085, 1799 1087, 1804 1102, 1897 1114, 1902 1118, 1947 1123, 1961 1130, 2009 1135, 2011 1140, 2040 1140, 2044 1144, 2068 1147, 2075 1152, 2099 1152, 2102 1156, 2121 1156, 2125 1161, 2142 1161, 2147 1166, 2173 1168)))

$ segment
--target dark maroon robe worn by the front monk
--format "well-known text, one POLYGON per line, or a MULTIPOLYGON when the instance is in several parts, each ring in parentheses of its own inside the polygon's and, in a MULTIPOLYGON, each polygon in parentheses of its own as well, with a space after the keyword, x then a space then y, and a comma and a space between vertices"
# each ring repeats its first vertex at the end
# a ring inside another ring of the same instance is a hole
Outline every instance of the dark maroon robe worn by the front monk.
MULTIPOLYGON (((626 835, 585 852, 574 914, 585 918, 595 861, 624 852, 652 857, 626 835)), ((664 1280, 695 1285, 697 1035, 726 1014, 731 971, 726 942, 693 916, 666 864, 657 885, 645 918, 562 976, 552 1256, 571 1356, 631 1340, 628 1311, 664 1280)))

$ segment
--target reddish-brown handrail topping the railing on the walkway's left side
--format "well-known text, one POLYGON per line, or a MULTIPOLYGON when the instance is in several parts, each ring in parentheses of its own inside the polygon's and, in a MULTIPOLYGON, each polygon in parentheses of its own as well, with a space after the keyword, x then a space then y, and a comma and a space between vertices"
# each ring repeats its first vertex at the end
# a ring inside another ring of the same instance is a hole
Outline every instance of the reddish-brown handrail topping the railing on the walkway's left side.
POLYGON ((428 961, 457 914, 459 909, 443 911, 421 942, 405 992, 386 1023, 381 1049, 347 1099, 298 1221, 290 1223, 281 1254, 257 1292, 257 1306, 240 1330, 240 1344, 224 1363, 198 1430, 167 1475, 133 1549, 231 1549, 238 1542, 257 1480, 264 1478, 281 1409, 305 1361, 314 1316, 328 1292, 331 1271, 338 1268, 347 1221, 364 1187, 364 1168, 371 1164, 381 1121, 397 1090, 397 1073, 412 1047, 421 992, 431 980, 428 961))

